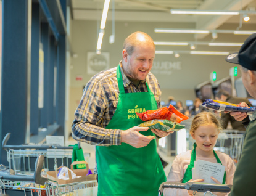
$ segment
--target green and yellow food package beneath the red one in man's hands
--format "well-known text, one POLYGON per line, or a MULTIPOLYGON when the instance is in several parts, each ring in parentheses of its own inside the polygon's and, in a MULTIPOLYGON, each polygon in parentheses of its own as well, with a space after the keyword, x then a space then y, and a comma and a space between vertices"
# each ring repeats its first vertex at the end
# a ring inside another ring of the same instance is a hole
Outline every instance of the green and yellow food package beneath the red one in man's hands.
POLYGON ((149 129, 159 129, 162 131, 178 131, 180 129, 183 129, 185 126, 180 125, 178 123, 173 123, 169 120, 150 120, 145 123, 139 124, 139 126, 142 127, 148 127, 149 129))

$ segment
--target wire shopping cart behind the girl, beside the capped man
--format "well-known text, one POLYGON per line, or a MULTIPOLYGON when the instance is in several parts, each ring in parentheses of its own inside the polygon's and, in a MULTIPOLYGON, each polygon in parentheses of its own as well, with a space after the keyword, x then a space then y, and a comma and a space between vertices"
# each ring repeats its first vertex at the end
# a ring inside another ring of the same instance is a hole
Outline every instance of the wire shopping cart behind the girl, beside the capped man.
POLYGON ((236 164, 242 152, 244 143, 244 131, 223 130, 220 132, 214 150, 226 153, 236 164))

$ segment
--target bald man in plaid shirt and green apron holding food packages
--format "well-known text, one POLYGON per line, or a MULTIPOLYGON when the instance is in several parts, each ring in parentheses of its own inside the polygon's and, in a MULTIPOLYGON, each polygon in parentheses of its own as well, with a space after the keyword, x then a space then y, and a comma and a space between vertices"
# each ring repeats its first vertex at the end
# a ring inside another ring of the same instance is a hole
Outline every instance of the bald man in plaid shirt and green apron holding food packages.
POLYGON ((125 39, 117 67, 86 84, 72 124, 74 139, 96 145, 98 195, 157 195, 166 181, 155 136, 170 133, 138 127, 135 112, 161 107, 152 73, 155 44, 143 32, 125 39))

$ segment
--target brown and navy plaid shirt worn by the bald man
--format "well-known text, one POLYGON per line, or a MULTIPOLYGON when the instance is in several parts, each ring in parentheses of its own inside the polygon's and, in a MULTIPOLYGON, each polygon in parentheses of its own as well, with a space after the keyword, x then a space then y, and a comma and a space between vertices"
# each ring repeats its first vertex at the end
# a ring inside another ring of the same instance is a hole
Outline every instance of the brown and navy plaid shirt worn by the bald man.
MULTIPOLYGON (((147 92, 145 80, 136 88, 123 73, 122 68, 121 73, 125 93, 147 92)), ((160 108, 161 91, 157 79, 149 73, 146 81, 160 108)), ((117 109, 118 95, 117 67, 94 75, 86 84, 80 104, 75 111, 75 120, 72 123, 73 138, 92 145, 121 145, 121 130, 105 129, 117 109)))

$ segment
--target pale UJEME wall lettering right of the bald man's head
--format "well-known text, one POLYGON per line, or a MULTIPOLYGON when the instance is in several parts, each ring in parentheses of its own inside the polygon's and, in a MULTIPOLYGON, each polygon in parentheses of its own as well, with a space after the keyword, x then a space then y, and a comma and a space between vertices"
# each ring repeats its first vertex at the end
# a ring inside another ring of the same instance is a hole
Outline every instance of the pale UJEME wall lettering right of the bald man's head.
POLYGON ((171 75, 175 70, 181 70, 181 62, 176 61, 154 61, 151 72, 154 74, 171 75))

